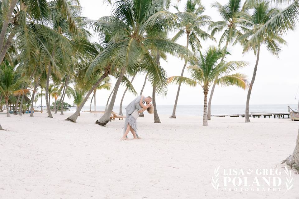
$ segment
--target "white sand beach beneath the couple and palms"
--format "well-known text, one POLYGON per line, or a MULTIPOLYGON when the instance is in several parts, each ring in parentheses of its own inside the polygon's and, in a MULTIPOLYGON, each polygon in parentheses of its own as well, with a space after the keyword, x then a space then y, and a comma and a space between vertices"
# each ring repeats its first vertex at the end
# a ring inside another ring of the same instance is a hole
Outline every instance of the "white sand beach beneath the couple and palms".
MULTIPOLYGON (((4 112, 3 112, 4 113, 4 112)), ((281 168, 292 153, 298 122, 290 119, 160 115, 138 119, 141 140, 119 141, 123 121, 100 127, 100 114, 77 123, 47 113, 0 114, 0 198, 298 198, 299 175, 285 192, 223 191, 211 186, 214 169, 281 168)), ((131 135, 130 135, 131 137, 131 135)), ((284 172, 282 177, 285 178, 284 172)), ((220 177, 223 177, 220 174, 220 177)))

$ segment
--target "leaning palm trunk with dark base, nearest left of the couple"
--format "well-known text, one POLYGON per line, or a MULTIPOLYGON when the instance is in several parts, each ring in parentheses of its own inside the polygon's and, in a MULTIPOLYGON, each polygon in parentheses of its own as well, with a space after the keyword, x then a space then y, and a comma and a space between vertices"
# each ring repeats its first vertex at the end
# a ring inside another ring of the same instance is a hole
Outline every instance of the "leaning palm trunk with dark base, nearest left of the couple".
POLYGON ((99 120, 96 121, 96 124, 101 125, 101 126, 105 126, 108 122, 111 121, 110 116, 111 116, 111 113, 112 113, 112 110, 113 110, 114 102, 115 102, 115 99, 116 99, 116 94, 117 94, 119 85, 121 84, 121 80, 122 80, 123 76, 124 76, 124 69, 121 69, 119 77, 118 77, 118 79, 115 83, 115 86, 114 86, 113 95, 111 97, 111 101, 109 103, 108 109, 107 109, 107 111, 105 111, 104 115, 102 115, 102 117, 99 120))

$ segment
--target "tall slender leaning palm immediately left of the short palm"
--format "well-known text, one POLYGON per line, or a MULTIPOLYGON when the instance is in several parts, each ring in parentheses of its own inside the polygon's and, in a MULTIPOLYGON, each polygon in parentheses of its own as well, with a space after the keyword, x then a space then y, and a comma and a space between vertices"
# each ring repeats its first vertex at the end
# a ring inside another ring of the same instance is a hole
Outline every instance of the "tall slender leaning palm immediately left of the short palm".
MULTIPOLYGON (((178 10, 178 7, 176 7, 178 10)), ((179 37, 182 35, 186 34, 187 35, 187 44, 186 48, 189 47, 189 44, 194 51, 196 48, 200 49, 201 46, 201 41, 206 40, 207 38, 211 38, 211 36, 206 33, 204 30, 201 28, 205 25, 208 25, 211 23, 210 17, 206 15, 201 15, 204 11, 204 7, 199 5, 197 7, 197 3, 191 0, 188 0, 185 5, 185 10, 184 12, 180 12, 178 10, 177 15, 186 15, 188 17, 180 18, 177 24, 177 28, 179 29, 178 33, 173 37, 173 41, 177 40, 179 37), (200 39, 199 39, 200 38, 200 39)), ((183 76, 185 68, 187 65, 187 60, 185 60, 181 76, 183 76)), ((178 85, 178 91, 177 95, 175 98, 174 106, 173 106, 173 112, 170 118, 176 118, 175 112, 177 109, 177 104, 178 104, 178 96, 180 93, 181 89, 181 84, 178 85)))

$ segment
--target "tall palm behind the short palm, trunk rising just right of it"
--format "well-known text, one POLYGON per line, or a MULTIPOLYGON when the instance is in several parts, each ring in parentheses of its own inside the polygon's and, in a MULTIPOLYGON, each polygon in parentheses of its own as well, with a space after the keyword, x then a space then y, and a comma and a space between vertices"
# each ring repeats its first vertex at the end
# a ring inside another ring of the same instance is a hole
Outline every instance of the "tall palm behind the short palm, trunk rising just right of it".
MULTIPOLYGON (((217 32, 223 31, 220 40, 219 47, 223 42, 225 42, 224 49, 226 50, 228 45, 231 42, 234 42, 240 30, 240 22, 243 22, 244 19, 241 18, 243 12, 246 7, 241 7, 241 0, 230 0, 224 6, 222 6, 219 2, 215 2, 212 4, 212 7, 217 8, 219 15, 222 17, 222 21, 216 21, 209 26, 209 30, 211 30, 211 35, 215 35, 217 32)), ((221 58, 221 61, 224 60, 224 56, 221 58)), ((214 94, 216 82, 213 84, 212 89, 210 91, 210 97, 208 102, 208 120, 211 120, 211 103, 212 97, 214 94)))

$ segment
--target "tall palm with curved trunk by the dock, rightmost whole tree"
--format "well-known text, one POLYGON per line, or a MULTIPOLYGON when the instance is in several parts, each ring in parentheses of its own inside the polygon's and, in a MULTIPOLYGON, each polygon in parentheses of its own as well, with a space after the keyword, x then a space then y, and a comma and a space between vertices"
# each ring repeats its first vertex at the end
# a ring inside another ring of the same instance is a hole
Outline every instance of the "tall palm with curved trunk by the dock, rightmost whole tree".
POLYGON ((250 82, 249 90, 246 98, 246 108, 245 108, 245 122, 250 122, 249 119, 249 100, 252 91, 252 87, 255 81, 255 76, 257 72, 257 67, 259 64, 260 48, 264 44, 268 51, 273 55, 278 57, 278 53, 281 51, 280 44, 287 44, 287 42, 280 37, 279 34, 274 32, 263 32, 261 37, 259 37, 259 42, 251 43, 248 41, 256 32, 263 27, 269 20, 276 16, 280 11, 277 8, 270 8, 269 2, 260 2, 256 4, 253 8, 253 14, 247 16, 247 20, 244 22, 244 27, 246 31, 244 34, 238 36, 235 43, 240 42, 244 45, 243 53, 253 50, 256 55, 256 62, 254 66, 253 76, 250 82))

